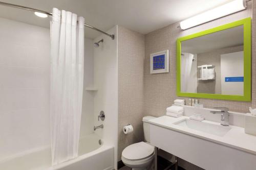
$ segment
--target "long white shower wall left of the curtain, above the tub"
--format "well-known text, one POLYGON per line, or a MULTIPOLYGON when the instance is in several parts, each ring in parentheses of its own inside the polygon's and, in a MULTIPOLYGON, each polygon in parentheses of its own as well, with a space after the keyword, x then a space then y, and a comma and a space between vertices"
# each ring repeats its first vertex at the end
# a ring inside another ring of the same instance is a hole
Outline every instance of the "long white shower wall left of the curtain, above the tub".
POLYGON ((50 31, 0 18, 0 160, 50 144, 50 31))

